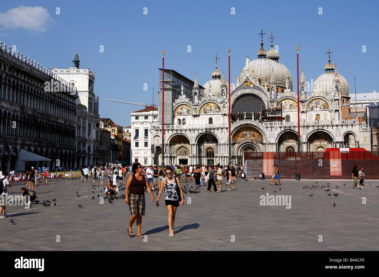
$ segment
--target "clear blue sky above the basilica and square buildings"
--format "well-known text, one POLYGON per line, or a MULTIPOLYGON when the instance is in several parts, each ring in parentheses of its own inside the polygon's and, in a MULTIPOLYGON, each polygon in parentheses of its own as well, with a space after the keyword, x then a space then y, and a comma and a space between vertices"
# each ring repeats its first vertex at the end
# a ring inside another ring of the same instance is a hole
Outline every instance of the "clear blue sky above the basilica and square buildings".
POLYGON ((376 1, 16 0, 0 7, 0 40, 7 46, 16 45, 17 51, 45 67, 71 67, 78 50, 80 68, 96 72, 94 92, 100 98, 100 117, 129 126, 129 114, 143 107, 104 99, 150 103, 154 87, 156 102, 162 50, 166 52, 165 68, 191 80, 196 71, 203 85, 215 68, 215 51, 221 58, 218 69, 224 69, 228 78, 230 48, 230 80, 234 82, 246 56, 257 58, 261 29, 266 33, 266 51, 270 49, 269 30, 276 36, 274 45, 279 46, 280 62, 291 72, 295 91, 296 46, 307 81, 323 74, 325 51, 330 46, 334 52, 331 62, 348 81, 350 93, 354 93, 354 77, 357 93, 379 91, 378 6, 376 1), (42 8, 26 9, 29 16, 33 14, 31 22, 22 13, 9 11, 20 6, 42 8), (57 7, 60 14, 56 14, 57 7), (145 7, 147 14, 143 14, 145 7), (235 14, 231 14, 232 7, 235 14), (99 51, 100 45, 104 52, 99 51), (188 45, 191 52, 187 52, 188 45))

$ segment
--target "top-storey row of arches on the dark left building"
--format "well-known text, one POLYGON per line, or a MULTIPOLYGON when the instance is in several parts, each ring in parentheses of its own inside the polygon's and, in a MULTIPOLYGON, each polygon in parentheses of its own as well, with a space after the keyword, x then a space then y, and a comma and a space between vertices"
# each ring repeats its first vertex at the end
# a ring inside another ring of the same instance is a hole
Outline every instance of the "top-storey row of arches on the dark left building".
POLYGON ((52 93, 36 90, 3 75, 0 76, 0 98, 67 120, 75 120, 76 105, 68 102, 69 97, 63 101, 52 93))

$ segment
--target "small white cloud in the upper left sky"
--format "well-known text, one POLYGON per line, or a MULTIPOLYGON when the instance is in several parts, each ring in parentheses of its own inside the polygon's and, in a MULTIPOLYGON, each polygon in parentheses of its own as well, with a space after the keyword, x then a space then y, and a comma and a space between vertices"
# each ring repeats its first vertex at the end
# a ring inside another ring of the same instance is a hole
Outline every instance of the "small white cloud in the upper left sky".
POLYGON ((9 9, 0 13, 0 24, 5 28, 25 28, 29 31, 45 32, 47 25, 54 23, 47 9, 35 6, 9 9))

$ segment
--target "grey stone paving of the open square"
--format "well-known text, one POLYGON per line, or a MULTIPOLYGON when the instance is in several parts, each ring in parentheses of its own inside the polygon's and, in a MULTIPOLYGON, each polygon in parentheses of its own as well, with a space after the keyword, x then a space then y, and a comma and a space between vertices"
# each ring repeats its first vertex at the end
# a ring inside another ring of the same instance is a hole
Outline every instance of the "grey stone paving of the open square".
MULTIPOLYGON (((0 250, 379 250, 378 180, 365 180, 361 190, 352 189, 352 180, 269 183, 267 179, 237 179, 235 191, 227 191, 224 184, 221 193, 205 192, 201 187, 199 194, 185 194, 191 204, 178 208, 174 237, 168 236, 164 195, 157 208, 146 194, 149 201, 141 230, 145 238, 136 237, 136 225, 133 238, 127 235, 130 212, 124 199, 101 205, 97 194, 104 194, 97 187, 95 200, 91 200, 91 184, 98 182, 40 184, 35 190, 41 202, 30 209, 7 206, 9 217, 0 219, 0 250), (326 183, 330 183, 330 192, 321 189, 326 183), (316 188, 310 189, 312 185, 316 188), (266 193, 291 195, 291 208, 261 206, 260 196, 266 193), (53 198, 57 198, 55 207, 42 206, 43 200, 53 198), (11 218, 16 224, 11 225, 11 218), (57 235, 60 242, 56 242, 57 235)), ((195 186, 194 182, 188 185, 195 186)), ((9 188, 9 195, 20 194, 20 189, 9 188)))

